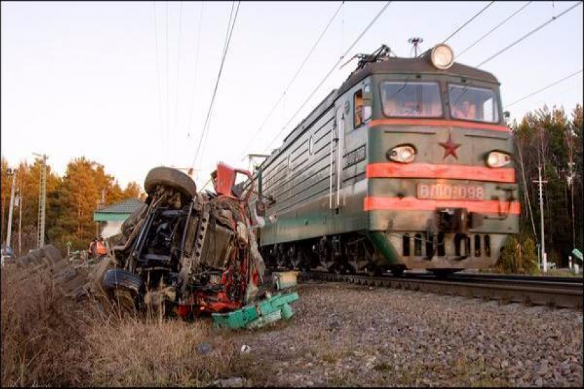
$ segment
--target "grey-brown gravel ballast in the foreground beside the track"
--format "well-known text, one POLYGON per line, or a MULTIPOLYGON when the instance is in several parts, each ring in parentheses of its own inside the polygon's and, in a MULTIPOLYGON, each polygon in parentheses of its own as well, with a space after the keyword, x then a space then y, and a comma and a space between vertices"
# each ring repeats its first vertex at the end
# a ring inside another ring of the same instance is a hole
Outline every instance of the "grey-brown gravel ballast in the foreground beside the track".
POLYGON ((254 386, 579 386, 581 311, 309 282, 289 322, 232 331, 254 386))

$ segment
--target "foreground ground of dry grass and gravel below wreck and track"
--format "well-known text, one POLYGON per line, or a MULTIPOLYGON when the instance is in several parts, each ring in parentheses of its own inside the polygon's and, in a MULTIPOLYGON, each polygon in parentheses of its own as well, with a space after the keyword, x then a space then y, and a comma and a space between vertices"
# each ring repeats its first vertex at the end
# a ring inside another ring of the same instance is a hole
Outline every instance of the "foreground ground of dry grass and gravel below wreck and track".
POLYGON ((309 281, 288 322, 233 331, 54 287, 83 272, 7 270, 2 386, 583 385, 581 311, 309 281))

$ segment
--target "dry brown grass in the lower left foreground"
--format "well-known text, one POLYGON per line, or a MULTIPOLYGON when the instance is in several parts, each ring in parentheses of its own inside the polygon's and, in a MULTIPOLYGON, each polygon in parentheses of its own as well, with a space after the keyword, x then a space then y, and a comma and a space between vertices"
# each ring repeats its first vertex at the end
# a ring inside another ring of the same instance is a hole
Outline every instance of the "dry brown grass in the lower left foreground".
POLYGON ((66 300, 48 272, 2 270, 2 386, 201 386, 240 355, 209 320, 122 314, 66 300), (20 279, 20 281, 19 281, 20 279), (208 342, 211 351, 196 352, 208 342))

